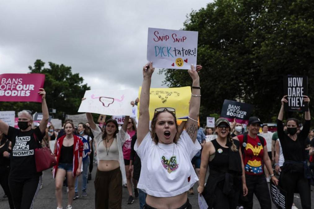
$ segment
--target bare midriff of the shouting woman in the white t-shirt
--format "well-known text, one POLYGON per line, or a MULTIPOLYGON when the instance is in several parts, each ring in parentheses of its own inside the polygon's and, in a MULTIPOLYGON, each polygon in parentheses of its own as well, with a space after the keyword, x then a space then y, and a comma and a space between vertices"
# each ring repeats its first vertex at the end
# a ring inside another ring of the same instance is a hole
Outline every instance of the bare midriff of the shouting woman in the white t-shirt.
POLYGON ((173 197, 146 196, 146 204, 154 208, 176 209, 187 202, 187 192, 173 197))

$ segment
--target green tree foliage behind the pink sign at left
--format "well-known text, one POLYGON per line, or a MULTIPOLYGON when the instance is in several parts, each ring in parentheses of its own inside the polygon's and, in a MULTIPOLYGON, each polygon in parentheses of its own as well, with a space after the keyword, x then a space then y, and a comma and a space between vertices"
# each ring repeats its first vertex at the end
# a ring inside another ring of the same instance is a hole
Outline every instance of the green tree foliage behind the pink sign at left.
MULTIPOLYGON (((86 90, 90 87, 83 84, 84 79, 78 73, 72 73, 71 67, 49 62, 49 68, 45 68, 45 62, 36 60, 34 66, 29 66, 30 73, 43 73, 46 75, 44 88, 48 108, 57 110, 52 114, 54 118, 64 118, 65 114, 78 114, 86 90)), ((3 102, 0 110, 32 110, 41 112, 41 104, 35 102, 3 102)))

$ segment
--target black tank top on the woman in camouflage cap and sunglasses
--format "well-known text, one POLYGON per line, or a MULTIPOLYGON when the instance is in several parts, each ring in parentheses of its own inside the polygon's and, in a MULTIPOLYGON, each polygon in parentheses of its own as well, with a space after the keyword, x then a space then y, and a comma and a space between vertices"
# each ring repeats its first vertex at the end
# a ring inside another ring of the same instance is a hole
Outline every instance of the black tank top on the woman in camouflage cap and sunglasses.
POLYGON ((225 148, 219 145, 216 139, 211 141, 215 147, 215 157, 209 161, 209 172, 215 170, 220 173, 226 173, 229 170, 229 147, 225 148))

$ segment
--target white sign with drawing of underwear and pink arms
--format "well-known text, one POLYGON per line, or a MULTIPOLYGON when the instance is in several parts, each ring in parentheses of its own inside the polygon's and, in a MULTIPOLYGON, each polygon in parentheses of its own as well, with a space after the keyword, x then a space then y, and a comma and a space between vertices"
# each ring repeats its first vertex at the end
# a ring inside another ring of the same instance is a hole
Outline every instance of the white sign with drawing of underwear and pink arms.
POLYGON ((125 90, 87 90, 78 112, 90 112, 103 115, 132 115, 131 101, 137 92, 125 90))

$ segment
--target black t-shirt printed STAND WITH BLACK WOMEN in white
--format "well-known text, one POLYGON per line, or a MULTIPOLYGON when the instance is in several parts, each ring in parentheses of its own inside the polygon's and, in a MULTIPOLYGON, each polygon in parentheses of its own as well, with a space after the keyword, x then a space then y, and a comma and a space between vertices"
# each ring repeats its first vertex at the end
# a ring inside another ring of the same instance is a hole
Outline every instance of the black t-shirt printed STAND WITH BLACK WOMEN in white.
POLYGON ((12 142, 10 179, 28 179, 42 172, 36 171, 34 149, 39 148, 38 142, 45 133, 41 133, 39 127, 30 131, 21 131, 9 126, 8 140, 12 142))

